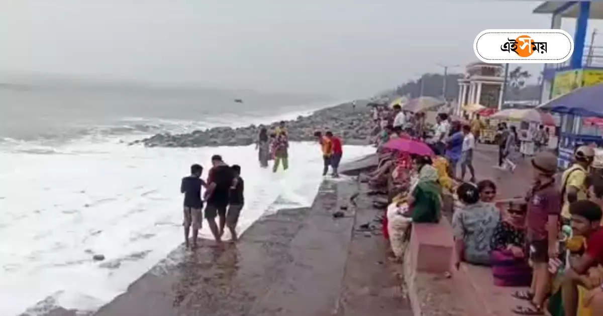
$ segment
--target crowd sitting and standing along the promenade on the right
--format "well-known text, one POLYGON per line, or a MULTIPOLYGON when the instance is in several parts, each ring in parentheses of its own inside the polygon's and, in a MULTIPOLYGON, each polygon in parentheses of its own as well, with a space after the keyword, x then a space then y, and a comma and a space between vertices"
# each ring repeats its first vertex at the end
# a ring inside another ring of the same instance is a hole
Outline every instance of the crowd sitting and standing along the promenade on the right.
MULTIPOLYGON (((443 197, 449 193, 456 199, 451 218, 456 266, 461 261, 487 265, 495 285, 529 287, 513 293, 529 302, 529 307, 513 308, 515 314, 603 315, 603 161, 596 163, 592 147, 578 147, 574 163, 559 177, 557 156, 546 150, 548 131, 538 126, 531 138, 532 187, 523 199, 497 205, 496 184, 476 182, 472 164, 485 128, 479 117, 463 124, 440 113, 429 137, 426 129, 412 125, 416 120, 411 118, 420 115, 397 107, 374 113, 379 163, 366 181, 375 194, 388 196, 383 229, 395 259, 403 255, 412 223, 440 220, 443 197), (399 137, 425 141, 435 155, 383 146, 399 137), (464 182, 467 169, 470 178, 464 182)), ((514 176, 519 163, 520 139, 515 126, 499 124, 495 167, 508 170, 508 176, 514 176)))

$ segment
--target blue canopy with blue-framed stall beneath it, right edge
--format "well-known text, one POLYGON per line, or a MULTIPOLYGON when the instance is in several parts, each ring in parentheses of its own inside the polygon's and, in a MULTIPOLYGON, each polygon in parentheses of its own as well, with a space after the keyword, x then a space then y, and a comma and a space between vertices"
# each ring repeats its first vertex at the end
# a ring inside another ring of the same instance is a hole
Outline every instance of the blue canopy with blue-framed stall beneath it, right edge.
POLYGON ((583 121, 584 117, 603 117, 603 84, 577 88, 539 105, 538 109, 561 114, 559 167, 569 166, 576 147, 590 143, 603 145, 603 131, 583 121))

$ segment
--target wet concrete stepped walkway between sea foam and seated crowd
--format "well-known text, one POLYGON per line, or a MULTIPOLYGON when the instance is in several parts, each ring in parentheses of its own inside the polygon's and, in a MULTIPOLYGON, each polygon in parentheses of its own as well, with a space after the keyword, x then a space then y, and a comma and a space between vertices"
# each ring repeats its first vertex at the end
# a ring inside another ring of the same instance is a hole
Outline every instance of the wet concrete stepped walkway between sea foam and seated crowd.
POLYGON ((180 247, 95 315, 412 315, 384 238, 354 232, 383 214, 363 194, 350 204, 358 190, 325 181, 311 208, 260 218, 236 244, 180 247))

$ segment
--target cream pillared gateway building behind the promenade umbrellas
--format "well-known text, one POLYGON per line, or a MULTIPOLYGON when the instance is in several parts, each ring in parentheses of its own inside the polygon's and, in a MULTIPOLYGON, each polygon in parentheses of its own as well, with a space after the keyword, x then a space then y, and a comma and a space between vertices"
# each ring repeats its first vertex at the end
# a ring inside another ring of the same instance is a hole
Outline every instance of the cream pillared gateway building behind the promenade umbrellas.
POLYGON ((500 110, 504 82, 502 64, 487 64, 481 61, 468 64, 465 77, 458 79, 456 115, 463 114, 463 107, 472 104, 500 110))

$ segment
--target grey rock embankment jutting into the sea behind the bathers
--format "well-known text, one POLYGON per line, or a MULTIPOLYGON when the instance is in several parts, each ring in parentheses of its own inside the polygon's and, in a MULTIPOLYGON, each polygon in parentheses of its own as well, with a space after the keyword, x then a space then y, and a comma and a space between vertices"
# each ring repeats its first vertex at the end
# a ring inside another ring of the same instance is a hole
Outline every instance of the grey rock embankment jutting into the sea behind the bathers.
MULTIPOLYGON (((269 134, 270 129, 276 128, 278 123, 265 125, 269 134)), ((186 134, 156 134, 131 144, 142 143, 147 147, 247 146, 256 142, 261 127, 262 125, 239 128, 221 126, 186 134)), ((286 128, 289 141, 313 141, 315 131, 332 131, 343 138, 346 144, 368 144, 374 126, 367 108, 341 104, 287 121, 286 128)))

